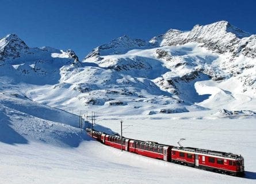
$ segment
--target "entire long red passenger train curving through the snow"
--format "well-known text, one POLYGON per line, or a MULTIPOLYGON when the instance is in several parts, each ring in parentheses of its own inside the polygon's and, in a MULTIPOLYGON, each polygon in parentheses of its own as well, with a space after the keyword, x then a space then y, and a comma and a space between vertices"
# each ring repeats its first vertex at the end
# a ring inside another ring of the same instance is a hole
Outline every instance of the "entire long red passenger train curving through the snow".
POLYGON ((118 149, 121 149, 121 146, 123 145, 123 150, 125 151, 134 152, 150 158, 184 164, 186 166, 197 167, 228 175, 244 175, 244 159, 241 155, 191 147, 174 147, 173 145, 134 140, 125 137, 121 139, 120 136, 108 135, 95 130, 92 131, 89 128, 86 129, 86 132, 103 144, 118 149))

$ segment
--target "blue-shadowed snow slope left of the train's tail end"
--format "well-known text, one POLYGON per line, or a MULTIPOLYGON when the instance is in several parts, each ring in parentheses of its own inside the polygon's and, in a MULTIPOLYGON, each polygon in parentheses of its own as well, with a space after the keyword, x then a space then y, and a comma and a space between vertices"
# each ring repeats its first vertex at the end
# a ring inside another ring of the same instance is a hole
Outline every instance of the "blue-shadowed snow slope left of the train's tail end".
POLYGON ((77 147, 86 135, 78 116, 40 105, 24 95, 1 93, 0 141, 6 144, 28 144, 37 140, 57 146, 77 147))

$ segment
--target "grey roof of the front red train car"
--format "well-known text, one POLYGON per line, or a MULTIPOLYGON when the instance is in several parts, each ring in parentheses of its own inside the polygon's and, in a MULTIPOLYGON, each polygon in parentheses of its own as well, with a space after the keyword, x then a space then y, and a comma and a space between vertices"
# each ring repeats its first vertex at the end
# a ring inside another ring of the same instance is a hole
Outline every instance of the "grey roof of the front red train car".
POLYGON ((198 154, 221 156, 221 157, 224 157, 224 158, 231 158, 231 159, 242 158, 241 155, 236 155, 236 154, 227 153, 227 152, 221 152, 221 151, 205 150, 205 149, 200 149, 200 148, 174 147, 174 149, 176 149, 176 150, 183 150, 183 151, 190 151, 190 152, 196 152, 198 154))

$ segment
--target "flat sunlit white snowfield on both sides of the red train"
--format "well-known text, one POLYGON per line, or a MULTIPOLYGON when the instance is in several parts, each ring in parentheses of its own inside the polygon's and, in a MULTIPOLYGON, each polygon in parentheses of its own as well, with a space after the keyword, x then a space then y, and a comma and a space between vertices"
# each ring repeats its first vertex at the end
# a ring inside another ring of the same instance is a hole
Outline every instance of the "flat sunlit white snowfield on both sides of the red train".
MULTIPOLYGON (((164 117, 124 119, 124 136, 242 154, 246 177, 221 175, 121 152, 89 137, 78 147, 56 146, 37 141, 0 143, 0 183, 255 183, 255 118, 201 119, 209 113, 181 113, 164 117), (194 119, 198 118, 198 119, 194 119)), ((119 119, 98 119, 120 132, 119 119)))

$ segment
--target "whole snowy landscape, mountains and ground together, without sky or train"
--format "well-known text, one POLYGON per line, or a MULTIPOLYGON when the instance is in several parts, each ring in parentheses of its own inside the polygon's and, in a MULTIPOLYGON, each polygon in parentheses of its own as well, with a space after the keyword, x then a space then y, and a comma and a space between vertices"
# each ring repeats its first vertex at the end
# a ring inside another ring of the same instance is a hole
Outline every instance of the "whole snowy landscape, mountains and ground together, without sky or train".
POLYGON ((0 183, 254 183, 255 35, 226 21, 74 51, 0 39, 0 183), (216 30, 219 30, 218 32, 216 30), (237 178, 121 152, 79 128, 241 154, 237 178), (84 123, 83 128, 90 126, 84 123), (112 132, 113 131, 113 132, 112 132))

